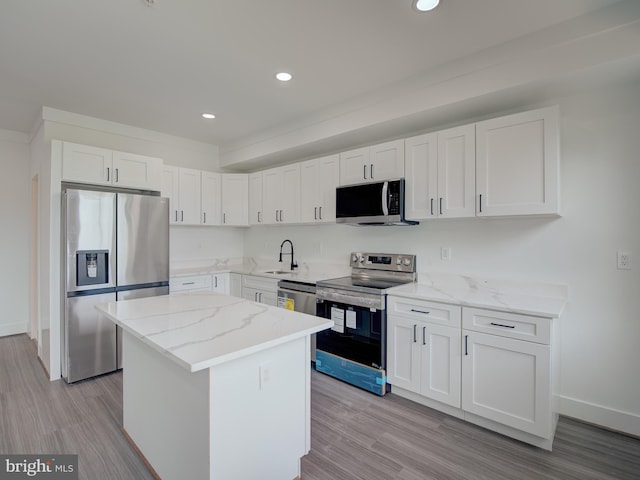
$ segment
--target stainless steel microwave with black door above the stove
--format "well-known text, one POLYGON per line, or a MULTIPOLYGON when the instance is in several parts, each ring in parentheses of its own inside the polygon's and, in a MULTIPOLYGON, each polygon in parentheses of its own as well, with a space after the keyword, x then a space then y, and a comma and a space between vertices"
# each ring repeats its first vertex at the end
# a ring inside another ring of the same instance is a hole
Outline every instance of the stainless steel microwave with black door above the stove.
POLYGON ((404 178, 336 188, 336 223, 416 225, 404 218, 404 178))

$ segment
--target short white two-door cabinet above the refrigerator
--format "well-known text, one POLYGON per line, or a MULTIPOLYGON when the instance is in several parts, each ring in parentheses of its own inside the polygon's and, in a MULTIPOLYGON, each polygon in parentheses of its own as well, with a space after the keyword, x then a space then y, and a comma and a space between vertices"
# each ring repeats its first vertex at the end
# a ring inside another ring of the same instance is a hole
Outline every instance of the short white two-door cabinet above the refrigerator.
POLYGON ((64 142, 62 180, 94 185, 160 191, 162 160, 64 142))

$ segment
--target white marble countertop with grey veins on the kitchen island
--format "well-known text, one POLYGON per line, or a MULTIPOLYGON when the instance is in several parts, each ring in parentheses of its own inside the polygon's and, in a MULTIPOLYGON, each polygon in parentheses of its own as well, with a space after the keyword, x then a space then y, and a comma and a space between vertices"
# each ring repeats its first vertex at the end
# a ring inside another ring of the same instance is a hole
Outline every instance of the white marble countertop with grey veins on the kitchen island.
POLYGON ((325 318, 216 293, 122 300, 96 308, 191 372, 333 326, 325 318))

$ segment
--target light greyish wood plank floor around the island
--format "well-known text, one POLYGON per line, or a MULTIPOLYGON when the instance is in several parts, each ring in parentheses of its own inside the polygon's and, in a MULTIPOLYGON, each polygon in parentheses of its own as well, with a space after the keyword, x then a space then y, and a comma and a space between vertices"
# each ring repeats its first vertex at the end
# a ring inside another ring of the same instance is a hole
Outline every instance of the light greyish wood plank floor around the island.
MULTIPOLYGON (((550 453, 317 372, 311 402, 303 480, 640 479, 640 440, 566 418, 550 453)), ((0 338, 0 453, 77 453, 80 479, 151 479, 121 422, 121 374, 49 382, 25 335, 0 338)))

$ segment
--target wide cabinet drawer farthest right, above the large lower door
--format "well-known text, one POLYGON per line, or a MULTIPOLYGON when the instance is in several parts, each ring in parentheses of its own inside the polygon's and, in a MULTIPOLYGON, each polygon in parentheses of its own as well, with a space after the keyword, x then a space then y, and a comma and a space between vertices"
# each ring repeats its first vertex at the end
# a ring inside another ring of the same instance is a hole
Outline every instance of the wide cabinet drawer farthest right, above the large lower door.
POLYGON ((551 339, 551 319, 516 313, 494 312, 480 308, 462 309, 462 327, 501 337, 517 338, 548 345, 551 339))

